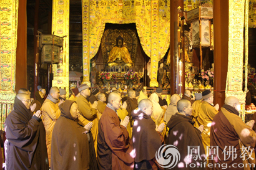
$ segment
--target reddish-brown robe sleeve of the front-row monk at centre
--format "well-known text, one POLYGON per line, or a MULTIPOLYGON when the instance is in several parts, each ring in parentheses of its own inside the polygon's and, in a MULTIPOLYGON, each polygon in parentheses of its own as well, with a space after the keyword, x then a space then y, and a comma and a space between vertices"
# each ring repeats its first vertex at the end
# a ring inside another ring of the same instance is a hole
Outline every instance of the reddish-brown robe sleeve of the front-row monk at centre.
POLYGON ((126 127, 116 125, 114 121, 114 118, 109 116, 102 122, 102 130, 104 131, 104 138, 107 145, 112 151, 129 148, 129 133, 126 130, 126 127))

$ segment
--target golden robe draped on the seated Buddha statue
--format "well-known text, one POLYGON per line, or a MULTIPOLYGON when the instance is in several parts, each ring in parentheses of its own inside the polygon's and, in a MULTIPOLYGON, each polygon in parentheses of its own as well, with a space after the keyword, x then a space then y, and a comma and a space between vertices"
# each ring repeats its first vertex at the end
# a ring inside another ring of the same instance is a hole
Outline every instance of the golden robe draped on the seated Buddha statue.
POLYGON ((117 59, 122 59, 126 64, 132 64, 132 59, 130 59, 130 54, 126 47, 113 47, 107 62, 114 62, 117 59))

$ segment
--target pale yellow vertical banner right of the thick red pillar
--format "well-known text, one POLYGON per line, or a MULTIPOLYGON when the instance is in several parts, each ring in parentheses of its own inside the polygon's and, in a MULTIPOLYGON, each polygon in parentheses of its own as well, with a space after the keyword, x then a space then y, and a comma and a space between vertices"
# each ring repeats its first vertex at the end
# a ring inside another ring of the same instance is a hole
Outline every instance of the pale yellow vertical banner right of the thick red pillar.
MULTIPOLYGON (((239 98, 245 103, 246 93, 243 87, 244 57, 244 0, 229 1, 229 62, 226 83, 226 97, 239 98)), ((244 120, 244 115, 242 115, 244 120)))

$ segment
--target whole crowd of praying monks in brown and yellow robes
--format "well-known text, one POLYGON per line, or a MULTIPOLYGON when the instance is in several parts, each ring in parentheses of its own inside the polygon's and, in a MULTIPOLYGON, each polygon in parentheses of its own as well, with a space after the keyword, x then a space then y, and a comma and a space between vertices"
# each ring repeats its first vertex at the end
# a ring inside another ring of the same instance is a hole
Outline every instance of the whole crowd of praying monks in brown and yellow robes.
POLYGON ((163 144, 179 151, 179 160, 162 155, 177 161, 172 169, 254 169, 256 125, 241 120, 235 97, 219 108, 210 90, 174 94, 169 105, 161 88, 69 92, 67 100, 66 90, 39 86, 34 100, 19 90, 5 121, 5 169, 164 169, 163 144))

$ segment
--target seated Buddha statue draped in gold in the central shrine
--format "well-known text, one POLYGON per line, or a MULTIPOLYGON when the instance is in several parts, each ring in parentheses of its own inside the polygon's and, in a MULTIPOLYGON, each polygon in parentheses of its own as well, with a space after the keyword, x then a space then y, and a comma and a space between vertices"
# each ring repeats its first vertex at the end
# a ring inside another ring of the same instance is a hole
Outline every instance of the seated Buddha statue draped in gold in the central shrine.
POLYGON ((110 67, 116 65, 122 65, 127 67, 132 67, 132 59, 130 59, 129 51, 124 47, 124 39, 119 36, 116 39, 116 46, 113 47, 109 53, 109 58, 107 59, 107 65, 110 67))

